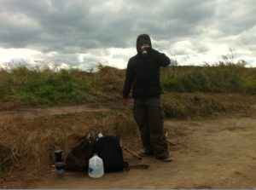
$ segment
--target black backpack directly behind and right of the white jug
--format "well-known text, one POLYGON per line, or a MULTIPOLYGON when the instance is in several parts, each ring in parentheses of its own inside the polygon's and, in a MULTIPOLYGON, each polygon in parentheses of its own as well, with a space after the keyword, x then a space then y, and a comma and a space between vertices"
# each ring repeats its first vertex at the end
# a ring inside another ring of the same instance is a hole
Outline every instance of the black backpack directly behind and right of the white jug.
POLYGON ((128 163, 124 161, 123 150, 117 136, 106 135, 98 139, 94 153, 102 158, 105 172, 129 170, 128 163))

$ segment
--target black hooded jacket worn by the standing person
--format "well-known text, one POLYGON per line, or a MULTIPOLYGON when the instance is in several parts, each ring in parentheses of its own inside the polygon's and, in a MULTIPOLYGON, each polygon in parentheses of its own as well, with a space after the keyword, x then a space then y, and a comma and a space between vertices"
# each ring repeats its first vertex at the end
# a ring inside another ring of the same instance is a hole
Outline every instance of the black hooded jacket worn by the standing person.
POLYGON ((137 55, 131 57, 128 62, 123 89, 123 98, 125 99, 128 98, 131 87, 133 98, 148 98, 160 95, 160 66, 170 64, 170 59, 165 54, 152 49, 152 46, 147 49, 148 54, 143 55, 139 48, 139 43, 142 42, 151 46, 148 34, 137 37, 137 55))

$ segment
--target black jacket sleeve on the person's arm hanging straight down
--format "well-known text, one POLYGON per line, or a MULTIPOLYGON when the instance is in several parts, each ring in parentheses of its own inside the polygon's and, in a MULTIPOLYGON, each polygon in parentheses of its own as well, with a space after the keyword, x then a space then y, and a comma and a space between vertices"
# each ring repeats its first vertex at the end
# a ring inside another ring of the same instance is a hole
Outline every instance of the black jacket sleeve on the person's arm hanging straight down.
POLYGON ((130 59, 127 65, 126 75, 125 75, 125 85, 123 89, 124 99, 127 99, 130 94, 132 81, 133 81, 133 72, 132 72, 132 63, 130 59))

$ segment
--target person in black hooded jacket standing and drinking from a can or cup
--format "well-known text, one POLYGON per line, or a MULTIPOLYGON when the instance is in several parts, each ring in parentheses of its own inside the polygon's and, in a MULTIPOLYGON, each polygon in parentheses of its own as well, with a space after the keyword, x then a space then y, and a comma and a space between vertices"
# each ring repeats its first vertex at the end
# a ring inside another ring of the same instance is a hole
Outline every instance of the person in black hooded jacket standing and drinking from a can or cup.
POLYGON ((131 57, 126 69, 123 89, 127 106, 132 88, 133 116, 140 130, 144 150, 141 156, 153 156, 172 161, 164 135, 164 112, 160 103, 160 66, 168 66, 170 59, 152 48, 148 34, 137 37, 137 55, 131 57))

